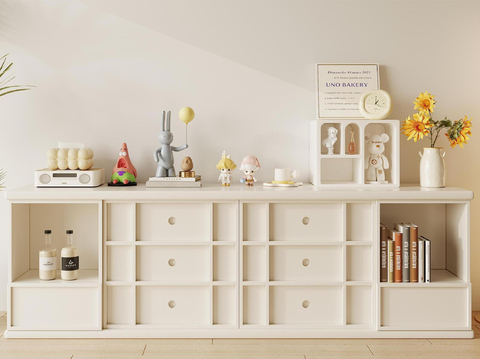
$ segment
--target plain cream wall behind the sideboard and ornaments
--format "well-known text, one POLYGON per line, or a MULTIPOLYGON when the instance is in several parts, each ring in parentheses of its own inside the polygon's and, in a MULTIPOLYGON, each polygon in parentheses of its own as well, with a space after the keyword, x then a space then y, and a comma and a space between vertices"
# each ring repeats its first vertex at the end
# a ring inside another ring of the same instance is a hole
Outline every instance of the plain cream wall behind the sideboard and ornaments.
MULTIPOLYGON (((308 121, 315 116, 316 62, 377 62, 392 118, 436 95, 438 118, 480 118, 477 1, 20 1, 0 0, 0 54, 10 53, 30 91, 0 97, 0 168, 8 187, 32 182, 57 141, 84 142, 113 167, 127 142, 140 180, 154 174, 163 109, 191 106, 190 148, 216 181, 222 150, 255 154, 259 180, 275 167, 308 177, 308 121)), ((174 145, 184 125, 174 117, 174 145)), ((480 190, 480 137, 447 149, 447 184, 480 190)), ((418 151, 401 140, 401 180, 418 182, 418 151)), ((440 145, 447 147, 445 138, 440 145)), ((237 179, 239 173, 237 173, 237 179)), ((6 309, 6 202, 0 199, 0 310, 6 309)), ((480 255, 472 203, 474 309, 480 255)))

